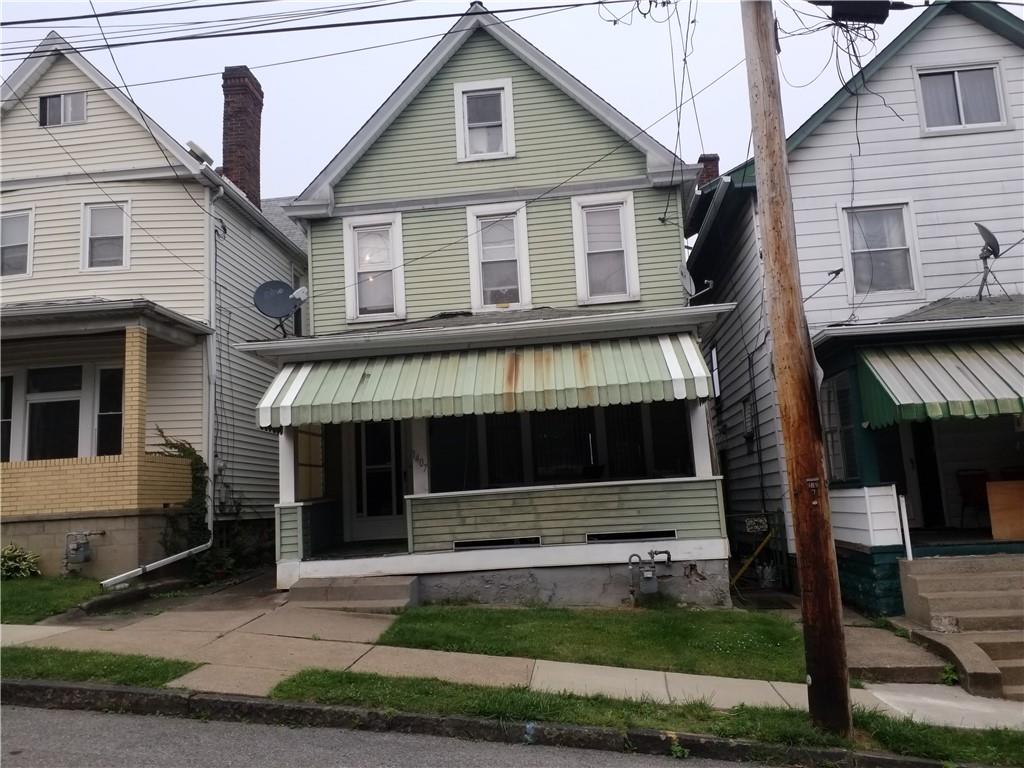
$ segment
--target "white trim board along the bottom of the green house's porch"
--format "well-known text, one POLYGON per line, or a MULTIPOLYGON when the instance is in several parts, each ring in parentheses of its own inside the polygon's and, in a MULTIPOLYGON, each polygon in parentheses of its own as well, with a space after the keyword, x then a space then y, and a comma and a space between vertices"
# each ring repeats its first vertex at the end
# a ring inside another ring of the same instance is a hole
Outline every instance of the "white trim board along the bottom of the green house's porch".
POLYGON ((356 557, 346 560, 303 560, 278 563, 278 589, 289 589, 300 579, 362 575, 420 575, 511 568, 555 568, 566 565, 625 565, 634 552, 655 547, 668 550, 673 562, 724 560, 727 539, 664 539, 648 542, 564 544, 547 547, 478 549, 460 552, 422 552, 409 555, 356 557))

